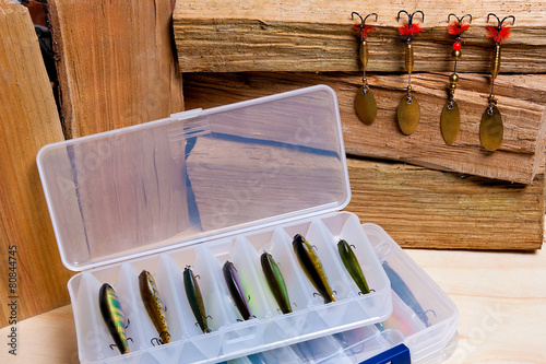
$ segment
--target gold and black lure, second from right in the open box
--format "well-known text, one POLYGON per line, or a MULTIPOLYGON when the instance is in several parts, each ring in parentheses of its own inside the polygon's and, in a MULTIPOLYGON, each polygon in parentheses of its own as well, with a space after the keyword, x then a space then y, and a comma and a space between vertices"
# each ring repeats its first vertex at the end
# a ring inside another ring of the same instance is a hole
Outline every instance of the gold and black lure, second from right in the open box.
POLYGON ((300 234, 296 234, 292 245, 294 247, 294 253, 296 253, 296 256, 298 257, 301 269, 314 289, 319 291, 322 298, 324 298, 324 303, 335 302, 330 283, 328 283, 327 274, 322 269, 322 263, 320 262, 319 257, 314 254, 309 242, 307 242, 300 234))

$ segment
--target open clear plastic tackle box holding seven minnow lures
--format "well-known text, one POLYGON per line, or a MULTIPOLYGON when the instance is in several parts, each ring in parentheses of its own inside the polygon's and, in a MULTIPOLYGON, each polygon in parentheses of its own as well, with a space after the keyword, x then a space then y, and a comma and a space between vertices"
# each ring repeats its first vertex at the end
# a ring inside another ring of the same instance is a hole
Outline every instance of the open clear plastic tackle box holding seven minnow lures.
MULTIPOLYGON (((69 282, 83 363, 215 363, 383 321, 389 279, 351 200, 335 93, 319 85, 46 145, 37 156, 69 282), (324 304, 292 248, 304 235, 335 293, 324 304), (336 243, 355 246, 372 292, 361 295, 336 243), (294 312, 282 315, 259 266, 272 254, 294 312), (222 279, 232 261, 254 318, 241 321, 222 279), (212 332, 195 326, 182 284, 199 274, 212 332), (139 294, 150 271, 167 307, 173 342, 139 294), (130 353, 121 355, 98 307, 116 290, 130 353), (157 341, 155 341, 157 342, 157 341)), ((325 339, 328 340, 328 339, 325 339)))

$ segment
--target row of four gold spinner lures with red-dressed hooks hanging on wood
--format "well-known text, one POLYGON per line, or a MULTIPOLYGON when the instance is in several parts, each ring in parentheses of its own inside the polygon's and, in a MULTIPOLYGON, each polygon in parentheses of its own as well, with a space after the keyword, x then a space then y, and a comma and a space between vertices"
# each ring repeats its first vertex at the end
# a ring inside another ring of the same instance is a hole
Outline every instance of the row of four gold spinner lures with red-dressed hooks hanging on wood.
MULTIPOLYGON (((416 17, 416 15, 419 15, 420 22, 424 22, 425 14, 420 10, 415 11, 412 14, 410 14, 405 10, 401 10, 396 16, 396 21, 401 20, 401 14, 407 15, 407 22, 399 27, 399 32, 401 36, 405 37, 406 44, 404 64, 407 71, 407 94, 404 95, 400 101, 400 104, 396 108, 396 118, 400 130, 404 134, 410 136, 417 128, 420 115, 419 103, 415 95, 412 94, 411 75, 415 63, 413 39, 416 34, 423 31, 423 28, 420 27, 419 23, 414 22, 414 17, 416 17)), ((360 39, 359 58, 364 68, 363 86, 358 90, 355 97, 355 111, 363 122, 370 125, 377 117, 377 104, 366 79, 366 67, 368 64, 369 58, 367 38, 370 32, 372 32, 376 27, 373 25, 366 25, 366 20, 370 15, 375 15, 377 21, 378 15, 377 13, 371 13, 364 19, 357 12, 353 12, 352 17, 353 15, 357 15, 360 19, 360 24, 356 24, 353 27, 358 32, 358 37, 360 39)), ((497 108, 497 99, 495 98, 494 94, 494 85, 495 79, 500 71, 500 44, 510 36, 510 25, 513 25, 515 22, 515 17, 513 15, 508 15, 500 20, 496 14, 490 13, 487 15, 487 23, 489 23, 489 20, 491 19, 494 19, 496 23, 495 25, 487 24, 486 33, 486 36, 495 42, 495 51, 491 58, 490 67, 491 92, 488 97, 488 106, 482 115, 482 120, 479 124, 479 141, 482 143, 482 146, 489 152, 496 151, 502 142, 502 117, 499 109, 497 108)), ((471 14, 466 14, 462 17, 459 17, 455 14, 449 14, 448 16, 448 33, 454 37, 453 50, 451 51, 451 58, 454 60, 454 66, 453 73, 449 77, 450 85, 448 90, 448 101, 440 116, 441 134, 446 144, 448 145, 453 144, 453 142, 455 141, 461 124, 459 106, 454 99, 454 93, 459 81, 459 75, 456 74, 456 62, 462 57, 461 35, 466 30, 468 30, 471 22, 471 14)))

